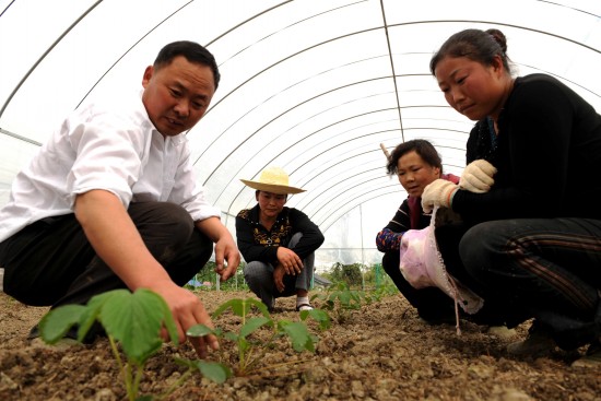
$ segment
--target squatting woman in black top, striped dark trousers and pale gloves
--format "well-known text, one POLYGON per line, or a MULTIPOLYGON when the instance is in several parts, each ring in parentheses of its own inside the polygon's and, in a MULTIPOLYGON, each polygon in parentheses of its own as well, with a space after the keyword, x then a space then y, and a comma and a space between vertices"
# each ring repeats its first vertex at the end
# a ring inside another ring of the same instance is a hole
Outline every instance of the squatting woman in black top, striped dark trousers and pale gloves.
POLYGON ((422 204, 450 207, 469 223, 460 262, 473 290, 504 305, 509 326, 535 318, 562 349, 590 344, 577 364, 600 363, 601 116, 553 76, 514 79, 506 50, 499 31, 466 30, 434 55, 449 105, 479 121, 468 158, 488 158, 497 172, 482 193, 436 180, 422 204))

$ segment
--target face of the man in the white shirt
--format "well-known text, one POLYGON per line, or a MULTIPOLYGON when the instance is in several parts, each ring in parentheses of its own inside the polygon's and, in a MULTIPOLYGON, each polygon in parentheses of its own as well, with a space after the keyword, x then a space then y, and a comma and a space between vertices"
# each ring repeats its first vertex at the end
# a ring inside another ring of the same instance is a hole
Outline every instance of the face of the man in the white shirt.
POLYGON ((215 93, 213 71, 184 56, 158 70, 150 66, 142 80, 142 102, 154 127, 164 137, 192 128, 207 111, 215 93))

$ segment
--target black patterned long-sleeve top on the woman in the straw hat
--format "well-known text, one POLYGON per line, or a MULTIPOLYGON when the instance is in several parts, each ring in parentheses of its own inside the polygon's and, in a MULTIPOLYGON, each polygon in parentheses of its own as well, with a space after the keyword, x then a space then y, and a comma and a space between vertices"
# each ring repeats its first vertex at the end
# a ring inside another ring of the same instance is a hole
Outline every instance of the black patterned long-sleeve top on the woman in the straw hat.
POLYGON ((261 261, 278 264, 278 247, 285 246, 300 259, 315 252, 323 240, 323 234, 309 217, 294 208, 284 208, 275 223, 268 231, 259 223, 259 204, 241 210, 236 216, 236 239, 246 262, 261 261), (303 233, 294 247, 287 247, 292 236, 303 233))

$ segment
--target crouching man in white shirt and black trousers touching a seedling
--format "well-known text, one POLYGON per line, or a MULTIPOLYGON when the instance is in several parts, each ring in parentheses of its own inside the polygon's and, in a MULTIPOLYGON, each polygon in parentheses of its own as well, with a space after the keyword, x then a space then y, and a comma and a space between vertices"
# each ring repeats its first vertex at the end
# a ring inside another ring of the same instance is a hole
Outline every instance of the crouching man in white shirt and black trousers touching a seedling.
MULTIPOLYGON (((222 280, 235 274, 240 256, 196 184, 186 131, 219 80, 211 52, 175 42, 145 69, 142 91, 68 116, 15 177, 0 210, 4 292, 57 307, 144 287, 169 305, 179 341, 191 326, 211 327, 201 300, 182 286, 213 243, 222 280)), ((217 347, 212 335, 190 341, 201 357, 217 347)))

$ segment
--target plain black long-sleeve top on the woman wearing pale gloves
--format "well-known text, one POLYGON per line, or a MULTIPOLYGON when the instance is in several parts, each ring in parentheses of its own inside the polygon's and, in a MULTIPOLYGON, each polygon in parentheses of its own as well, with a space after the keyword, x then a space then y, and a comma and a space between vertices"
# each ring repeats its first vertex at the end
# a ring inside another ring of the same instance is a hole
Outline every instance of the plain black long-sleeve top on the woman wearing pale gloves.
POLYGON ((550 75, 521 76, 499 115, 494 152, 486 126, 471 131, 468 163, 487 158, 498 172, 487 193, 457 191, 452 209, 463 219, 601 219, 601 116, 584 98, 550 75))

